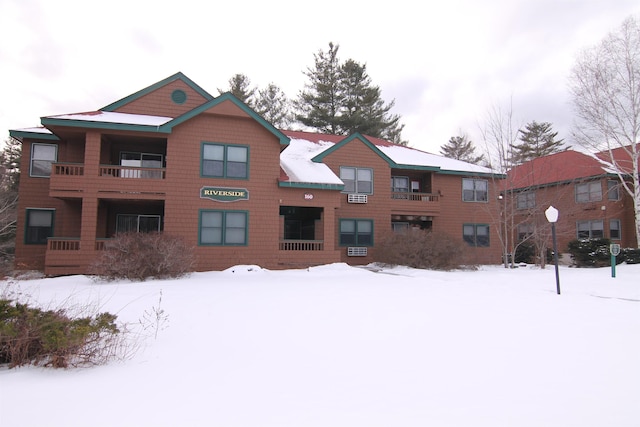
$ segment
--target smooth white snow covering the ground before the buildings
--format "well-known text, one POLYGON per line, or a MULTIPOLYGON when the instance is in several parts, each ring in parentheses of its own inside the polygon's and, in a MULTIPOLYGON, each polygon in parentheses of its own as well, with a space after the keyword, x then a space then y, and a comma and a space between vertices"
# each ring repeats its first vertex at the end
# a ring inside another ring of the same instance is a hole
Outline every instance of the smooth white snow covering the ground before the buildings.
POLYGON ((3 283, 165 316, 125 361, 0 368, 0 426, 638 426, 639 277, 561 267, 561 295, 553 267, 3 283))

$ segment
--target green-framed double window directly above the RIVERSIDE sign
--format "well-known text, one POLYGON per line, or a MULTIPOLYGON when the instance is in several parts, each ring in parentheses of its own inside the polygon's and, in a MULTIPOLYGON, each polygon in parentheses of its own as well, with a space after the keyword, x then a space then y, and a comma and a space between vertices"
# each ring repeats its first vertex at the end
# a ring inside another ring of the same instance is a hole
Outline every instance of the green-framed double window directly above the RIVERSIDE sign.
POLYGON ((202 144, 202 176, 248 178, 249 147, 228 144, 202 144))

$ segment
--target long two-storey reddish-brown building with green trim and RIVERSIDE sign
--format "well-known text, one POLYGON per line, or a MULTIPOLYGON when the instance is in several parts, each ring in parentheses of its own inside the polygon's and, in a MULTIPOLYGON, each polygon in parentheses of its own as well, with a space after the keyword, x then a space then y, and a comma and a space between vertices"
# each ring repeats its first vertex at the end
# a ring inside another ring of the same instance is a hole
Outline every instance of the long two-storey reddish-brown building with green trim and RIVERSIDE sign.
POLYGON ((491 170, 366 135, 274 128, 182 73, 22 141, 16 267, 86 273, 116 233, 163 231, 196 269, 374 260, 385 233, 444 231, 499 263, 491 170))

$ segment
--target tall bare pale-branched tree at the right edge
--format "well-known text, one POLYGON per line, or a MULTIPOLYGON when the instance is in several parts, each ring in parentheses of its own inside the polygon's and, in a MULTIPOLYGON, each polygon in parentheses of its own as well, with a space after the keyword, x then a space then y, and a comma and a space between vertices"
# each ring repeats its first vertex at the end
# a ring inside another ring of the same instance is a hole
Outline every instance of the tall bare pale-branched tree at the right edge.
POLYGON ((582 52, 570 90, 578 118, 573 136, 585 147, 608 153, 611 169, 633 199, 640 248, 640 24, 635 18, 582 52))

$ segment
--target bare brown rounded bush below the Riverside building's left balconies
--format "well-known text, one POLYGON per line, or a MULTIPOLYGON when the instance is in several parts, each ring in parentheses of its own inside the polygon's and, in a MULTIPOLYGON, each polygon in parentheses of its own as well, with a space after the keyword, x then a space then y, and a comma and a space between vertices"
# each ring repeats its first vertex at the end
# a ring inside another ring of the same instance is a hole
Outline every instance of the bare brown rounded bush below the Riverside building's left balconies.
POLYGON ((193 249, 165 233, 121 233, 105 244, 92 273, 103 280, 182 277, 192 271, 193 249))

